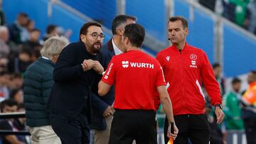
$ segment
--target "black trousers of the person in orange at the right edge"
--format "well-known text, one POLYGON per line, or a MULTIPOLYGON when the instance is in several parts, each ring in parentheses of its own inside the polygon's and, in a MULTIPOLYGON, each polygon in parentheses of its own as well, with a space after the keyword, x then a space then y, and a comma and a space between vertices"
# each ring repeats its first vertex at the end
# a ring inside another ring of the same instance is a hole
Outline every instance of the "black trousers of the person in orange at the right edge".
POLYGON ((256 144, 256 118, 244 119, 247 143, 256 144))

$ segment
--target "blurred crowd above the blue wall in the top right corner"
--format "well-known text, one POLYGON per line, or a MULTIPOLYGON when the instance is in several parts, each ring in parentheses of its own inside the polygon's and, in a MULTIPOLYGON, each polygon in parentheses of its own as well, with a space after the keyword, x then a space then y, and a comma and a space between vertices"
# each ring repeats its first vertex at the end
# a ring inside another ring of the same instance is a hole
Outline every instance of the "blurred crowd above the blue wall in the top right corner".
POLYGON ((256 35, 256 0, 198 0, 198 2, 256 35))

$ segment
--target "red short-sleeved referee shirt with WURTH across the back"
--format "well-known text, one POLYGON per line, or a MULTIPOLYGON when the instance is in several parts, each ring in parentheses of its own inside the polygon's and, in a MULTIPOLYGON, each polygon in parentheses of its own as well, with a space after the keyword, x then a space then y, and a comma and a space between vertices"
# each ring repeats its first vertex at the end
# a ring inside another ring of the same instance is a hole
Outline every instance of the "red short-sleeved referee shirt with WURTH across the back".
POLYGON ((114 109, 155 110, 156 87, 166 85, 159 62, 139 50, 112 57, 102 81, 114 84, 114 109))

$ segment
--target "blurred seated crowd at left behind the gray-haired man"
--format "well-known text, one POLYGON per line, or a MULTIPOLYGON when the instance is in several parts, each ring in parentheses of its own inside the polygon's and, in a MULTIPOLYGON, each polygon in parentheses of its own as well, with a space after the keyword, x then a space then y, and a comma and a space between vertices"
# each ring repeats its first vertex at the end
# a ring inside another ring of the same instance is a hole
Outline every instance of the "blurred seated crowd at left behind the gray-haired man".
MULTIPOLYGON (((5 23, 0 9, 0 106, 1 113, 25 111, 23 104, 23 73, 41 57, 41 49, 48 38, 72 33, 50 24, 41 39, 41 31, 26 13, 18 13, 14 23, 5 23)), ((1 130, 24 131, 26 118, 1 119, 1 130)), ((29 143, 29 137, 4 135, 0 143, 29 143)))

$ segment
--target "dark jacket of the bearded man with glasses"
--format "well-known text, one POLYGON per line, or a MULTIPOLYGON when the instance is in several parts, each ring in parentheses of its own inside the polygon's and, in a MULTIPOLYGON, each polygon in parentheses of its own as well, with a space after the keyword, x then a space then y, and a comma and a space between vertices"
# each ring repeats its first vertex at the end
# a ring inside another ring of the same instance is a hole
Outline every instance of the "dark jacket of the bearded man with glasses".
POLYGON ((99 60, 100 56, 91 55, 80 42, 71 43, 60 52, 53 71, 50 113, 69 118, 84 113, 90 123, 91 100, 94 101, 93 93, 97 94, 102 75, 94 70, 83 72, 81 63, 85 59, 99 60))

